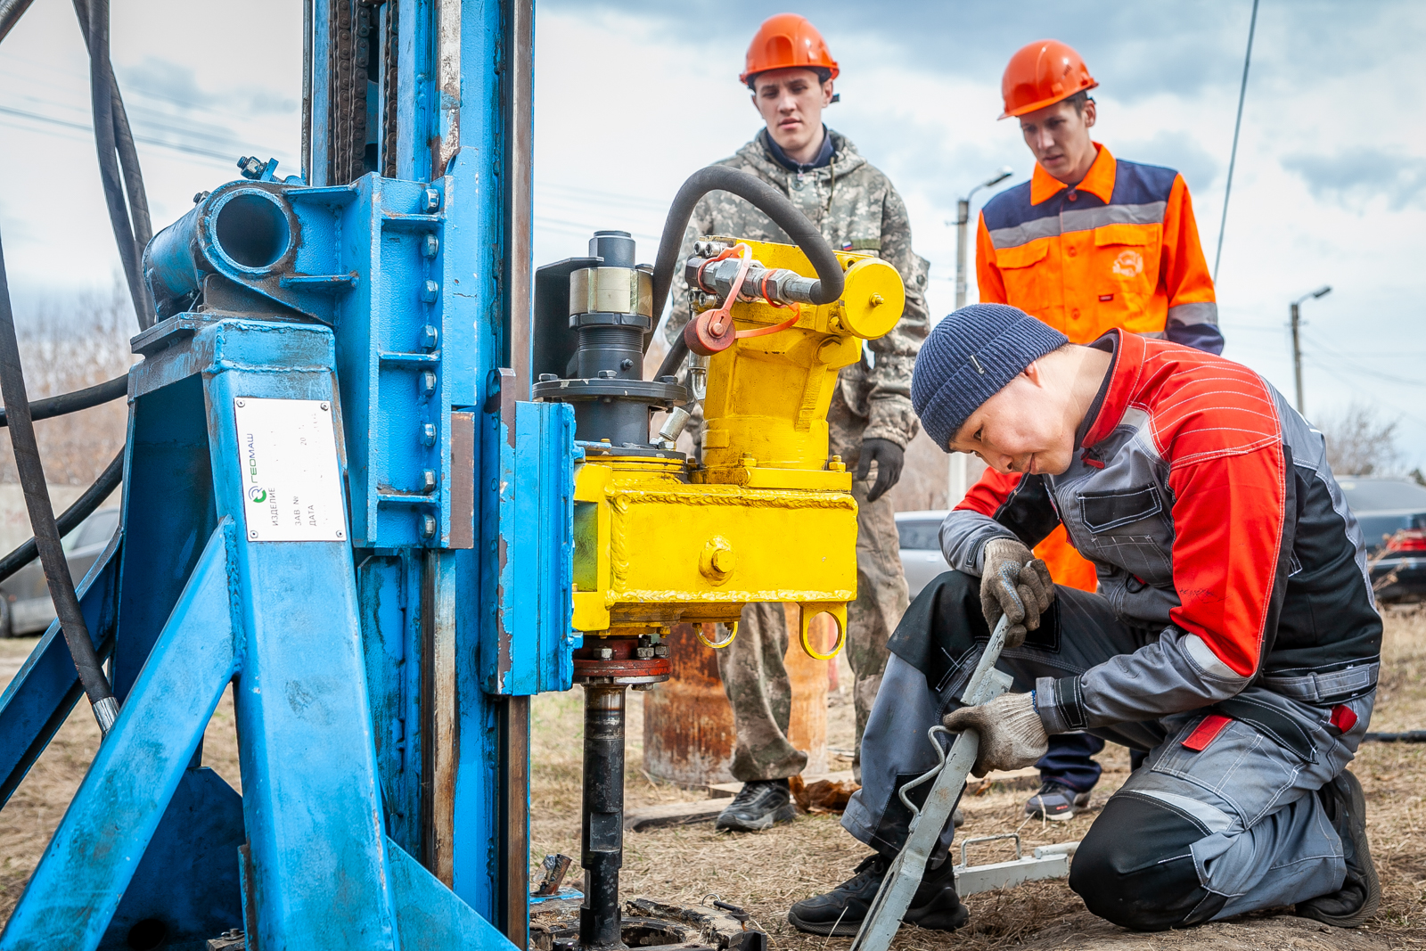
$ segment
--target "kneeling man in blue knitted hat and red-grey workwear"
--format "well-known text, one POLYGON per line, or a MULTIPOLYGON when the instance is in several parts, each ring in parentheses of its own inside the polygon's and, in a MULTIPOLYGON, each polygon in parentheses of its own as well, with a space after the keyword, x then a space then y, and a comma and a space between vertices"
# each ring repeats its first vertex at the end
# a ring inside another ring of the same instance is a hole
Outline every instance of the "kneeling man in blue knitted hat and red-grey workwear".
MULTIPOLYGON (((897 793, 935 766, 927 729, 943 716, 980 733, 977 776, 1027 767, 1051 734, 1077 730, 1148 751, 1070 873, 1115 924, 1292 904, 1338 927, 1366 921, 1380 888, 1346 764, 1372 713, 1382 624, 1322 436, 1232 361, 1124 331, 1075 346, 1000 304, 935 327, 911 398, 937 445, 992 471, 941 528, 954 570, 891 637, 863 788, 843 817, 877 854, 793 905, 791 922, 856 931, 906 841, 897 793), (1055 587, 1032 559, 1061 520, 1099 593, 1055 587), (965 707, 1002 612, 998 667, 1015 686, 965 707)), ((951 831, 908 922, 967 920, 951 831)))

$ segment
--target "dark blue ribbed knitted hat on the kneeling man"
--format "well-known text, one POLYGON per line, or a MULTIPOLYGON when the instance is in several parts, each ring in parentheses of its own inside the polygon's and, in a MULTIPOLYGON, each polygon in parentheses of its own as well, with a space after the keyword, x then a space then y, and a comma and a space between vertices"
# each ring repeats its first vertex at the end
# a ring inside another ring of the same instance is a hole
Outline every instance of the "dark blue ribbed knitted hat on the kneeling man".
POLYGON ((965 419, 1070 338, 1018 307, 971 304, 935 325, 911 374, 911 405, 943 451, 965 419))

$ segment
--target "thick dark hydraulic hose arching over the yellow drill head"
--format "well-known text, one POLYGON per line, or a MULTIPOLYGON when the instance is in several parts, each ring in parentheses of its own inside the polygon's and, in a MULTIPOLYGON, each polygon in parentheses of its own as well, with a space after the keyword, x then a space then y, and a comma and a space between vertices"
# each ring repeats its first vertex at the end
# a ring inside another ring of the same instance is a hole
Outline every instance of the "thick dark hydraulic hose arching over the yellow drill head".
MULTIPOLYGON (((659 257, 653 261, 653 314, 656 317, 663 314, 663 305, 669 299, 673 275, 679 267, 679 251, 683 247, 683 232, 693 218, 694 205, 703 195, 720 190, 737 195, 771 218, 779 228, 787 232, 793 244, 801 248, 821 281, 811 294, 813 304, 831 304, 841 297, 843 277, 837 252, 817 231, 817 225, 809 221, 807 215, 787 200, 787 195, 746 171, 709 165, 693 173, 679 188, 679 194, 673 197, 673 204, 669 205, 669 217, 663 222, 663 235, 659 240, 659 257)), ((677 374, 687 354, 689 345, 680 336, 673 342, 653 378, 677 374)))

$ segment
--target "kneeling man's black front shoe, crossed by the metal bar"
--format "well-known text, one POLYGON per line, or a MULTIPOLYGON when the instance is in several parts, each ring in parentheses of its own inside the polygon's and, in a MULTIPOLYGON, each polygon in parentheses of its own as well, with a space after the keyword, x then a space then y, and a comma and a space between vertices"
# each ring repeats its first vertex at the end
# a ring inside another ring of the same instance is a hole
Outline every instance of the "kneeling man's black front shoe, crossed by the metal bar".
MULTIPOLYGON (((799 931, 850 938, 861 930, 871 904, 881 890, 891 863, 881 855, 867 855, 854 874, 831 891, 799 901, 787 910, 787 921, 799 931)), ((951 863, 927 873, 921 887, 911 897, 911 907, 901 918, 918 928, 955 931, 971 913, 955 894, 955 878, 951 863)))

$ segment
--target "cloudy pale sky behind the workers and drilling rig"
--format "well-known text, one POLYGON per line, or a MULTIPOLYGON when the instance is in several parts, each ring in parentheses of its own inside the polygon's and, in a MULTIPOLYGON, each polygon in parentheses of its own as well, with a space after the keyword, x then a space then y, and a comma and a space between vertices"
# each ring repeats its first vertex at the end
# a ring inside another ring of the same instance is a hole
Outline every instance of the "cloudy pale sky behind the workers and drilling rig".
MULTIPOLYGON (((683 178, 757 130, 737 83, 763 17, 811 16, 841 64, 827 121, 906 197, 933 262, 933 312, 954 304, 955 198, 1031 158, 997 123, 1021 44, 1075 46, 1101 86, 1098 141, 1172 165, 1205 252, 1219 235, 1252 0, 884 4, 824 0, 542 0, 536 41, 536 258, 626 228, 653 257, 683 178)), ((114 63, 140 137, 155 225, 232 177, 238 154, 295 170, 297 0, 116 4, 114 63)), ((1426 465, 1426 135, 1415 117, 1426 6, 1262 0, 1218 294, 1226 355, 1292 394, 1288 304, 1303 305, 1309 418, 1365 401, 1399 419, 1426 465)), ((977 204, 985 192, 977 195, 977 204)), ((117 271, 88 133, 73 9, 40 0, 0 44, 0 231, 21 311, 117 271)), ((974 282, 974 274, 971 275, 974 282)), ((975 299, 974 284, 971 299, 975 299)))

